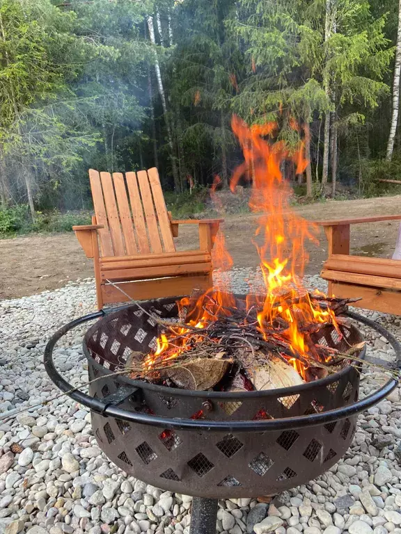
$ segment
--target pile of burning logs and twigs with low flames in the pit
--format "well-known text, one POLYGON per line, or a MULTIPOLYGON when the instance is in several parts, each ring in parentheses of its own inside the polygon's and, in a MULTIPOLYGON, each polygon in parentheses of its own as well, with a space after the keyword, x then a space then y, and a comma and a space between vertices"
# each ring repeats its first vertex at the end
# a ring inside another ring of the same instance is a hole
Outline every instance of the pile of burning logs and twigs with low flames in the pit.
POLYGON ((127 359, 131 377, 184 389, 249 391, 301 385, 324 378, 344 364, 343 355, 336 358, 340 354, 336 349, 317 341, 333 330, 342 336, 347 319, 338 313, 352 300, 324 300, 308 293, 290 300, 286 295, 279 298, 281 304, 269 323, 261 321, 262 305, 253 300, 218 291, 196 291, 182 299, 182 322, 163 327, 158 318, 157 349, 148 355, 133 352, 127 359), (306 303, 320 322, 300 316, 296 338, 292 316, 281 309, 287 305, 295 315, 297 307, 306 303), (299 339, 299 346, 294 339, 299 339))

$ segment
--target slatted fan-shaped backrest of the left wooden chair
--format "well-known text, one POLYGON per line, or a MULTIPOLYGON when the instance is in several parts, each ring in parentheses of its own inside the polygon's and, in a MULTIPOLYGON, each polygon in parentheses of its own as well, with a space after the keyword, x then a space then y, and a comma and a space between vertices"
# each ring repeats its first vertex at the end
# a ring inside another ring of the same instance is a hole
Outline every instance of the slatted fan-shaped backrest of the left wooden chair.
POLYGON ((102 257, 175 252, 159 174, 89 171, 102 257), (127 195, 128 190, 128 195, 127 195))

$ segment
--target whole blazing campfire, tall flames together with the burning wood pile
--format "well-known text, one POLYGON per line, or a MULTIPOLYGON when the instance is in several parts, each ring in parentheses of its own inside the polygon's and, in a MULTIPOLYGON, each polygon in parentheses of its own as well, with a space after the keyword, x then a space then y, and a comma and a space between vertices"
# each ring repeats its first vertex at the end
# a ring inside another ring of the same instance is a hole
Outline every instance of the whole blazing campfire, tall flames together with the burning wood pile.
MULTIPOLYGON (((297 124, 292 125, 297 128, 297 124)), ((285 161, 304 172, 303 145, 292 154, 283 141, 275 141, 275 123, 248 127, 237 117, 232 127, 244 152, 244 163, 231 179, 251 181, 249 205, 262 213, 255 232, 255 247, 265 283, 265 294, 255 291, 238 298, 225 287, 219 273, 233 261, 223 234, 214 247, 214 288, 179 302, 181 323, 162 324, 157 348, 146 355, 134 353, 127 362, 132 378, 146 378, 187 389, 246 391, 290 387, 338 371, 344 358, 315 343, 317 332, 330 329, 338 339, 347 300, 308 293, 301 283, 308 261, 306 241, 317 243, 317 228, 290 208, 291 189, 283 179, 285 161)), ((215 179, 212 193, 219 184, 215 179)))

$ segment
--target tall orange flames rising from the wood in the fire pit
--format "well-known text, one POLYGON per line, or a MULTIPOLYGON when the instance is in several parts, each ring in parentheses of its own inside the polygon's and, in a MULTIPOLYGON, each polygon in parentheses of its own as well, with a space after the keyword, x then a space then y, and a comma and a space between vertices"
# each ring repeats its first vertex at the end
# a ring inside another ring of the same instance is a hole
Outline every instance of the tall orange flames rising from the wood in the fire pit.
MULTIPOLYGON (((290 125, 298 129, 294 120, 290 125)), ((255 124, 249 127, 237 116, 233 117, 232 128, 244 153, 244 162, 233 173, 230 181, 234 193, 239 181, 251 182, 251 199, 249 206, 256 213, 261 213, 255 230, 253 243, 260 257, 260 268, 265 284, 265 294, 250 294, 246 299, 247 309, 258 310, 258 330, 265 337, 272 325, 287 325, 284 336, 296 357, 286 357, 302 378, 306 377, 308 355, 313 354, 314 347, 308 335, 302 331, 302 325, 310 323, 331 323, 338 325, 334 313, 321 308, 319 301, 310 300, 308 291, 301 283, 304 268, 308 261, 305 248, 307 241, 317 241, 317 226, 310 223, 291 209, 292 190, 283 177, 285 165, 295 165, 296 173, 306 169, 308 161, 304 156, 304 144, 290 151, 283 140, 276 140, 277 124, 255 124)), ((212 186, 212 198, 217 200, 215 191, 220 184, 215 177, 212 186)), ((220 206, 222 208, 222 206, 220 206)), ((223 233, 220 231, 214 245, 214 269, 217 269, 214 288, 198 296, 196 302, 188 298, 180 301, 181 309, 190 309, 186 324, 174 329, 173 345, 169 342, 169 333, 157 339, 157 349, 146 357, 144 366, 152 369, 155 362, 176 358, 183 350, 193 347, 200 338, 196 329, 205 327, 218 317, 229 316, 235 299, 229 288, 223 283, 222 273, 233 266, 233 260, 226 250, 223 233)), ((246 321, 246 319, 245 319, 246 321)), ((338 330, 339 331, 339 330, 338 330)), ((172 339, 172 338, 171 338, 172 339)), ((266 339, 266 338, 265 338, 266 339)))

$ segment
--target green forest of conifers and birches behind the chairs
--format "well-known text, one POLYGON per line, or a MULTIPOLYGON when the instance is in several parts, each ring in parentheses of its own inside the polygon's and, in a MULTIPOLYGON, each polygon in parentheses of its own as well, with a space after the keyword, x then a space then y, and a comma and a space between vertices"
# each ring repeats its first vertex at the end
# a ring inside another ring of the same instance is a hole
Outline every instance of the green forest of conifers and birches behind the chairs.
POLYGON ((89 221, 88 168, 156 166, 175 216, 198 215, 242 161, 233 114, 304 143, 304 174, 282 169, 294 202, 400 193, 400 15, 395 0, 0 0, 0 236, 89 221))

